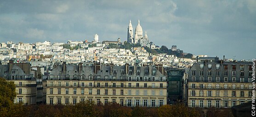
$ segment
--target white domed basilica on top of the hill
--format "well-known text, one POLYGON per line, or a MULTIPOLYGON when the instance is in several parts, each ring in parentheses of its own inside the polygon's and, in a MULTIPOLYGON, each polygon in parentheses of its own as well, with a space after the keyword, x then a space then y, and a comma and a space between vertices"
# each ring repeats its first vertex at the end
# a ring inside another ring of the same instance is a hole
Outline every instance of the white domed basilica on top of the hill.
POLYGON ((127 42, 131 44, 140 44, 141 46, 149 46, 147 32, 145 32, 145 35, 143 36, 140 20, 138 20, 138 25, 135 28, 134 36, 133 36, 133 28, 130 20, 130 23, 127 28, 127 42))

